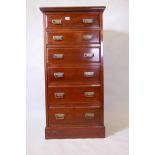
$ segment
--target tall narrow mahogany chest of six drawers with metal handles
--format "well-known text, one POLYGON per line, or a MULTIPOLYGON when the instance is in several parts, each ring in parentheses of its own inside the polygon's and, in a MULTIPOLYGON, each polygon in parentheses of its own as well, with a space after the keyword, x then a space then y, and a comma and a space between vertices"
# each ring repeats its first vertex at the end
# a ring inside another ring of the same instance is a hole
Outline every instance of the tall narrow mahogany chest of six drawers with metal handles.
POLYGON ((43 7, 45 138, 105 137, 105 7, 43 7))

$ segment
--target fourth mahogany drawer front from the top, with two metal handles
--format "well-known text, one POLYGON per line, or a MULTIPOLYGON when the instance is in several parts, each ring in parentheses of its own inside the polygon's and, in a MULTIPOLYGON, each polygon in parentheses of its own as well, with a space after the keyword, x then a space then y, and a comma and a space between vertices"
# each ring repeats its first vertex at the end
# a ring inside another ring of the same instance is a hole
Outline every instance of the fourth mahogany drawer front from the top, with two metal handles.
POLYGON ((99 82, 100 66, 48 68, 48 83, 99 82))

